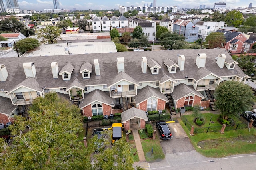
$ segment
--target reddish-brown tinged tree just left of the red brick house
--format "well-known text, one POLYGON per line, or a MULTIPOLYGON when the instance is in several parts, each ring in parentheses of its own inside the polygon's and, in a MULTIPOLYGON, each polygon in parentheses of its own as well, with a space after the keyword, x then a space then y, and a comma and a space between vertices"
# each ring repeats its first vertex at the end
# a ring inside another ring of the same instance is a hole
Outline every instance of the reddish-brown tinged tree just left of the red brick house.
POLYGON ((225 36, 222 32, 212 32, 206 37, 204 44, 209 44, 208 48, 222 48, 222 43, 226 43, 225 36))

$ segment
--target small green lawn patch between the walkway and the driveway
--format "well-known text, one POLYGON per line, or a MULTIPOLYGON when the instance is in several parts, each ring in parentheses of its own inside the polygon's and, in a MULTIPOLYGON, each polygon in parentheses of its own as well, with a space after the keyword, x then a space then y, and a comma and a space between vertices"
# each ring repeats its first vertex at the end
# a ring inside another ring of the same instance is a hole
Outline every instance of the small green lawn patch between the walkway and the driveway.
POLYGON ((164 159, 164 153, 158 140, 146 139, 141 140, 142 148, 146 161, 162 160, 164 159), (151 152, 153 148, 153 153, 151 152))

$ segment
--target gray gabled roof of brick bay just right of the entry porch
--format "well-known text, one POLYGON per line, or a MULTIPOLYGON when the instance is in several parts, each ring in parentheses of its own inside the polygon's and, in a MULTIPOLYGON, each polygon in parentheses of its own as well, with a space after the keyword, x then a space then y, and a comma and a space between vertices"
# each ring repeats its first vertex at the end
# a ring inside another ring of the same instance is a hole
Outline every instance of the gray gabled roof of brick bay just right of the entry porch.
POLYGON ((136 104, 141 103, 142 101, 145 101, 146 99, 155 96, 159 99, 162 99, 164 101, 169 101, 167 97, 160 92, 159 88, 153 88, 150 86, 146 86, 138 91, 138 95, 134 96, 134 100, 136 101, 136 104))

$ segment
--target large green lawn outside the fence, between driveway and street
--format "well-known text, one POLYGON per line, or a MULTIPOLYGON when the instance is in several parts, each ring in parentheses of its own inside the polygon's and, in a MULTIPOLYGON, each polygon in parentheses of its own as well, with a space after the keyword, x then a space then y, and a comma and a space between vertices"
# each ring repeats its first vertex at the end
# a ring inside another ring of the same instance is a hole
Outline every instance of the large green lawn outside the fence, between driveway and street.
POLYGON ((188 128, 179 119, 180 125, 190 138, 194 148, 207 157, 224 157, 256 152, 256 129, 248 128, 220 132, 199 133, 190 136, 188 128), (198 147, 200 146, 200 147, 198 147))

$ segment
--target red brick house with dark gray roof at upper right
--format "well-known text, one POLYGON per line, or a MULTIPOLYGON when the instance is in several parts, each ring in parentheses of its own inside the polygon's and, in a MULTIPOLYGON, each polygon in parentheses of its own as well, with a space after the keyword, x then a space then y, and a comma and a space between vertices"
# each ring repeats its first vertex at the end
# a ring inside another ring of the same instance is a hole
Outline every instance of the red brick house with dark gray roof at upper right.
POLYGON ((225 48, 230 54, 240 54, 244 52, 244 42, 248 40, 242 32, 235 30, 219 29, 216 32, 221 32, 226 38, 226 44, 222 43, 221 47, 225 48))

